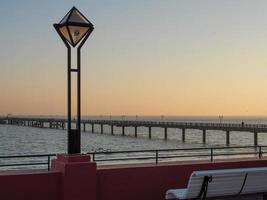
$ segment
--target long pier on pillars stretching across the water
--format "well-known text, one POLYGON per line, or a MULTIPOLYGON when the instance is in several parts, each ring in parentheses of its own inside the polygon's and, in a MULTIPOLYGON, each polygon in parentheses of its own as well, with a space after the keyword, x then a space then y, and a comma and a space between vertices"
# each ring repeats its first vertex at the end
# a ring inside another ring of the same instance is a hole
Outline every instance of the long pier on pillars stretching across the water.
MULTIPOLYGON (((72 123, 75 123, 72 120, 72 123)), ((24 118, 24 117, 2 117, 0 124, 31 126, 38 128, 65 129, 67 119, 59 118, 24 118)), ((133 127, 134 136, 138 136, 139 127, 147 127, 148 138, 152 138, 152 128, 162 128, 164 139, 168 139, 168 129, 182 130, 182 141, 186 139, 186 129, 197 129, 202 131, 202 142, 206 143, 206 131, 220 130, 226 134, 226 144, 230 144, 230 132, 251 132, 254 134, 254 145, 258 145, 258 133, 267 133, 266 124, 238 124, 238 123, 200 123, 200 122, 169 122, 169 121, 140 121, 140 120, 81 120, 81 129, 86 132, 88 125, 91 126, 91 132, 95 132, 95 126, 100 126, 100 133, 104 133, 104 126, 110 127, 110 134, 114 135, 114 127, 121 127, 121 134, 125 136, 125 128, 133 127)))

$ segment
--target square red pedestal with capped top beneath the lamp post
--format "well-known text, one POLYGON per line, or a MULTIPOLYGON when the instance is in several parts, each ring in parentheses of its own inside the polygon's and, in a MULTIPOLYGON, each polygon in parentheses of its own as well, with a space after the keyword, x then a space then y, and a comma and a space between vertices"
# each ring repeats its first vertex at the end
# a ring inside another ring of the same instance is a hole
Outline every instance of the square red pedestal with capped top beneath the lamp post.
POLYGON ((96 200, 97 170, 90 156, 58 155, 51 170, 61 174, 61 200, 96 200))

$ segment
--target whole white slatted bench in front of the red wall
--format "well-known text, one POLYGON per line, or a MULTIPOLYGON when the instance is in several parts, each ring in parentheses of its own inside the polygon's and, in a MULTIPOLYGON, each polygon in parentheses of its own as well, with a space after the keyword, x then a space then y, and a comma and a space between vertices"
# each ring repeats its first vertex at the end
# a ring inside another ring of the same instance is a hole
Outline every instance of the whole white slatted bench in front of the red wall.
POLYGON ((206 199, 262 193, 266 199, 267 167, 192 172, 187 188, 171 189, 166 199, 206 199))

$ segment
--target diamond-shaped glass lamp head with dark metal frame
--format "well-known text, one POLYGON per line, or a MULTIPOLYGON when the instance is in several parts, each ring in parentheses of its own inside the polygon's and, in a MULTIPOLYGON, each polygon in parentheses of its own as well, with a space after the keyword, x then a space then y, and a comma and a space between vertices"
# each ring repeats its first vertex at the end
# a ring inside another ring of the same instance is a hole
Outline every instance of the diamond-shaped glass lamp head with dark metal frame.
POLYGON ((54 24, 61 38, 75 47, 94 29, 93 24, 75 7, 58 23, 54 24))

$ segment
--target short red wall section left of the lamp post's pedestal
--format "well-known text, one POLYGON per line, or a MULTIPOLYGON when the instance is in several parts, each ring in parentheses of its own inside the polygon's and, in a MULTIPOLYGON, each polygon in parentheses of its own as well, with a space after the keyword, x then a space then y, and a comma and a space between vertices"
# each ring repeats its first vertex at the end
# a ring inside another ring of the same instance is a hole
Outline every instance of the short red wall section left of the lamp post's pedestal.
POLYGON ((58 200, 60 173, 9 171, 0 173, 2 200, 58 200))

